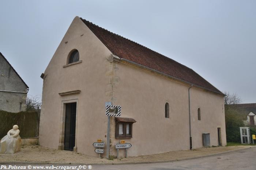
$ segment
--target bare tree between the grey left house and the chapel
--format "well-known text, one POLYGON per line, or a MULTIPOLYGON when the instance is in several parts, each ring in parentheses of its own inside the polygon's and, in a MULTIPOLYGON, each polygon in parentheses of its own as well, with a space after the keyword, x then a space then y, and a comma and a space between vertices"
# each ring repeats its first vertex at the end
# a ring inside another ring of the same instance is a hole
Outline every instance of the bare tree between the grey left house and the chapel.
POLYGON ((26 99, 26 111, 38 111, 41 109, 42 102, 40 101, 41 95, 31 96, 28 95, 26 99))

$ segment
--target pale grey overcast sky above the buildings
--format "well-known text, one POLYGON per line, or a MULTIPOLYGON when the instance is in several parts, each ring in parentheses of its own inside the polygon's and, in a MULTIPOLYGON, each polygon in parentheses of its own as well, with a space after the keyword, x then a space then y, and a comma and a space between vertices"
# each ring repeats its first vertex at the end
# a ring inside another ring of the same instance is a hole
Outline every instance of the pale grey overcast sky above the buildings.
POLYGON ((40 75, 79 16, 256 103, 255 0, 1 0, 0 7, 0 52, 29 95, 42 94, 40 75))

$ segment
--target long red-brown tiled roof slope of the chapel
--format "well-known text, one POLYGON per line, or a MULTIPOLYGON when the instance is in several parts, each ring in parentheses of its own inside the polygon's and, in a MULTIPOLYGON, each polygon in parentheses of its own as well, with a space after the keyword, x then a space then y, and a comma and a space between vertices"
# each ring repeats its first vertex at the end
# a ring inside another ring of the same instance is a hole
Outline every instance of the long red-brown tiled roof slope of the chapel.
POLYGON ((87 20, 82 18, 80 19, 98 37, 98 39, 101 40, 102 43, 120 59, 127 59, 164 74, 173 76, 174 78, 202 87, 206 90, 223 94, 191 68, 188 68, 174 61, 173 59, 150 50, 149 48, 144 47, 134 41, 101 28, 87 20))

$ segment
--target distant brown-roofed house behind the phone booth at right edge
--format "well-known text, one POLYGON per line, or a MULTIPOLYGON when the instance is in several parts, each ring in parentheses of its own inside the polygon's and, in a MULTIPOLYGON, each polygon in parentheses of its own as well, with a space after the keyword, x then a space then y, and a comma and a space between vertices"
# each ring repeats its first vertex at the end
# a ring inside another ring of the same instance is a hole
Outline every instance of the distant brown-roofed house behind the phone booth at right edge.
POLYGON ((256 103, 230 104, 228 106, 242 115, 245 125, 256 126, 256 103))

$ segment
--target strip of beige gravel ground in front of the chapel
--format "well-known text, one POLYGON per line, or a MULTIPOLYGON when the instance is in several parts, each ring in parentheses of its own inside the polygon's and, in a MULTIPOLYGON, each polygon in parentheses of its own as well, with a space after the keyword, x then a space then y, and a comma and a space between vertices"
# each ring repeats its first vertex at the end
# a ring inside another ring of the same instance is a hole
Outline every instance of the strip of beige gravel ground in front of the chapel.
POLYGON ((61 162, 61 163, 121 163, 121 162, 147 162, 167 161, 181 158, 190 158, 223 151, 248 148, 253 146, 221 146, 199 148, 195 150, 170 151, 162 154, 144 155, 138 157, 120 158, 108 160, 106 158, 93 157, 82 153, 50 149, 39 145, 23 145, 20 152, 15 154, 0 154, 1 162, 61 162))

